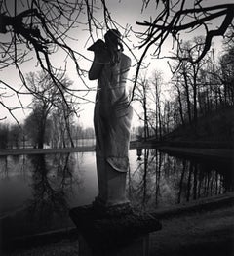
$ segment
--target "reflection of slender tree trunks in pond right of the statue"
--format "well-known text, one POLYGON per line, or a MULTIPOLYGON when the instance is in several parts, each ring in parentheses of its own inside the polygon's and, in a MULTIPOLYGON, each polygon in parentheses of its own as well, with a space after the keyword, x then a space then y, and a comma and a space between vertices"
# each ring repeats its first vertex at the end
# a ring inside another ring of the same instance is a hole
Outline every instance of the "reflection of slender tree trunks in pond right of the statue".
POLYGON ((228 162, 184 159, 143 149, 137 166, 131 166, 128 184, 137 207, 155 209, 233 191, 234 178, 228 162))

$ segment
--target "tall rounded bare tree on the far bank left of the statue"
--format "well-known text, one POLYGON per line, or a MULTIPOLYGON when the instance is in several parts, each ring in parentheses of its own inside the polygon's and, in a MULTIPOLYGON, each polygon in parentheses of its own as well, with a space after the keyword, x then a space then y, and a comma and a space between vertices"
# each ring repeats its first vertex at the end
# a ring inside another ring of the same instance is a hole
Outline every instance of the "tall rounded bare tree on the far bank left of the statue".
MULTIPOLYGON (((45 72, 29 73, 27 76, 30 91, 34 95, 32 112, 25 120, 25 130, 31 137, 34 146, 39 149, 43 148, 46 135, 50 137, 49 128, 52 130, 56 120, 50 121, 50 114, 57 111, 59 116, 65 119, 63 125, 66 130, 69 130, 67 114, 73 112, 73 106, 64 101, 65 94, 60 94, 58 87, 54 85, 51 77, 45 72)), ((63 87, 69 87, 71 81, 65 77, 60 77, 63 87)), ((56 121, 58 124, 58 121, 56 121)), ((55 131, 55 129, 53 130, 55 131)))

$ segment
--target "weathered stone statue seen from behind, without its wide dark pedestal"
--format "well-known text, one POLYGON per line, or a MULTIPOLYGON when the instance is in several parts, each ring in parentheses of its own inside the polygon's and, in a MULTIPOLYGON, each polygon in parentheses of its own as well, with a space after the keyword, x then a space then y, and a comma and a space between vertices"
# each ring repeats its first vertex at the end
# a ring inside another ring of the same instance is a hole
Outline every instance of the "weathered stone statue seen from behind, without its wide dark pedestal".
POLYGON ((98 79, 94 124, 98 196, 95 203, 109 207, 126 204, 126 174, 133 108, 126 92, 131 59, 123 54, 118 30, 108 30, 88 50, 94 51, 89 79, 98 79))

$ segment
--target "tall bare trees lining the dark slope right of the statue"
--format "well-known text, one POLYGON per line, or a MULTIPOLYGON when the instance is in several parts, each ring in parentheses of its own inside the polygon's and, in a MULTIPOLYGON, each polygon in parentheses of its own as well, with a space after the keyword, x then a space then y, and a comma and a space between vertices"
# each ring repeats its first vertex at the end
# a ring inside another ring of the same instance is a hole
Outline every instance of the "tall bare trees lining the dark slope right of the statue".
POLYGON ((181 42, 168 63, 172 71, 168 98, 163 96, 165 82, 160 71, 155 69, 151 76, 139 77, 136 101, 143 112, 138 114, 143 122, 139 131, 142 137, 162 139, 181 126, 189 126, 196 134, 202 117, 234 106, 233 34, 230 29, 221 55, 217 56, 213 48, 199 61, 195 60, 204 51, 205 38, 198 36, 181 42))

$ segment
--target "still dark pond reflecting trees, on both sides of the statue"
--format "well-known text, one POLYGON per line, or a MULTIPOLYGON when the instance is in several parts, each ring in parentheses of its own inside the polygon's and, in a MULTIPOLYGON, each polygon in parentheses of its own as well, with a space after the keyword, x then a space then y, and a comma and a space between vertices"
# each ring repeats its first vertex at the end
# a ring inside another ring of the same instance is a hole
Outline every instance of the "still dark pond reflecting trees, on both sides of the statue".
MULTIPOLYGON (((231 162, 185 159, 157 149, 130 150, 127 193, 154 211, 234 189, 231 162)), ((0 157, 0 227, 13 238, 72 227, 68 209, 98 195, 95 152, 0 157)))

